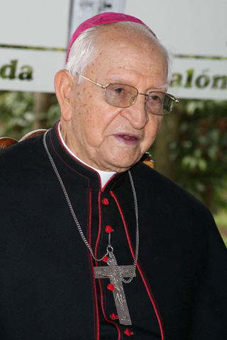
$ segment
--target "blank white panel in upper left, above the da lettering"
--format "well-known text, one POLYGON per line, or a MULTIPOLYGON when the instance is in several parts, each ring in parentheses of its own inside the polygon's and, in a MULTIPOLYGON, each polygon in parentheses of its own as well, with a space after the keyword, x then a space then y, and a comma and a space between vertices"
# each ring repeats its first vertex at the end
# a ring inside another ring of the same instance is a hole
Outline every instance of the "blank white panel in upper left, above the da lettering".
POLYGON ((0 0, 0 45, 66 48, 70 0, 0 0))

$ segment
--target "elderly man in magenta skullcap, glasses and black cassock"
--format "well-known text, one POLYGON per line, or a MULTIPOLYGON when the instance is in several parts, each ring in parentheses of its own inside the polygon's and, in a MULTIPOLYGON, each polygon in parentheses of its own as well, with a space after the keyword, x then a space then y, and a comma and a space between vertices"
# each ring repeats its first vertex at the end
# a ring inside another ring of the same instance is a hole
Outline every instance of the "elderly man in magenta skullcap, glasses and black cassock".
POLYGON ((1 339, 226 339, 214 220, 140 162, 176 102, 169 77, 137 18, 77 28, 60 122, 1 151, 1 339))

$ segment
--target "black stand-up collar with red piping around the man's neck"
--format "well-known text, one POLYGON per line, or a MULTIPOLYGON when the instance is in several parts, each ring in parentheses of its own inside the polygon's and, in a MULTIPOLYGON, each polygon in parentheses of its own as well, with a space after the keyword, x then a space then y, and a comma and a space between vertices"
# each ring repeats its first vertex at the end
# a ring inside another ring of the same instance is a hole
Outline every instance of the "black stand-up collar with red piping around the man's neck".
POLYGON ((121 174, 115 174, 106 183, 104 188, 101 188, 101 178, 99 173, 90 166, 79 162, 73 154, 68 152, 65 145, 63 145, 57 124, 48 131, 46 135, 46 142, 57 169, 67 171, 69 179, 70 176, 73 176, 73 180, 76 180, 79 185, 86 186, 88 188, 96 188, 99 191, 111 191, 113 188, 116 188, 116 186, 119 186, 127 175, 127 171, 121 174))

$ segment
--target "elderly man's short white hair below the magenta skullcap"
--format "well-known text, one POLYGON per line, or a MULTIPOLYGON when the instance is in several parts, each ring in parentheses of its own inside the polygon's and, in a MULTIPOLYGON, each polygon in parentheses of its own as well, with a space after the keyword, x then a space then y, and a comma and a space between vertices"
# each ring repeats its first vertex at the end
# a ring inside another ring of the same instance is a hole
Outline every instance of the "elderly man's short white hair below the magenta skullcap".
POLYGON ((82 34, 79 35, 76 40, 74 40, 70 49, 70 55, 65 66, 65 69, 67 69, 70 74, 74 76, 77 73, 83 74, 84 69, 96 58, 96 55, 99 52, 96 41, 97 37, 99 36, 99 30, 104 31, 104 29, 107 30, 111 28, 111 26, 121 27, 133 39, 135 39, 138 35, 143 35, 145 38, 152 40, 152 42, 160 48, 167 59, 167 83, 170 83, 173 61, 172 51, 169 47, 160 42, 160 40, 155 38, 155 35, 153 35, 149 28, 140 25, 139 23, 131 23, 129 21, 93 26, 92 28, 84 30, 84 32, 82 32, 82 34))

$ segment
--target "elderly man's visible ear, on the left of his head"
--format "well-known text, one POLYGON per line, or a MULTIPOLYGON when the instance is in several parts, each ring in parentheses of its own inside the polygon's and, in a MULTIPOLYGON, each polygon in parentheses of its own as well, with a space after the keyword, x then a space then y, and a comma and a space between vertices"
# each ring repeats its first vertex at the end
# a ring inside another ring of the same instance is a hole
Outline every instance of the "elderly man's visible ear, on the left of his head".
POLYGON ((60 69, 55 75, 55 94, 61 108, 62 118, 71 120, 70 91, 73 86, 72 75, 67 69, 60 69))

